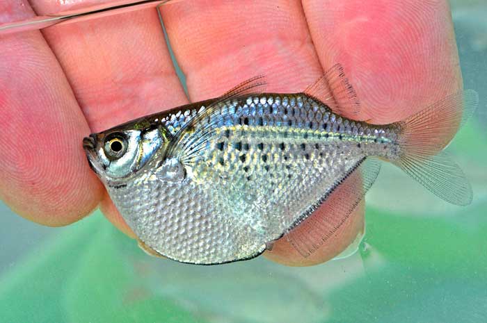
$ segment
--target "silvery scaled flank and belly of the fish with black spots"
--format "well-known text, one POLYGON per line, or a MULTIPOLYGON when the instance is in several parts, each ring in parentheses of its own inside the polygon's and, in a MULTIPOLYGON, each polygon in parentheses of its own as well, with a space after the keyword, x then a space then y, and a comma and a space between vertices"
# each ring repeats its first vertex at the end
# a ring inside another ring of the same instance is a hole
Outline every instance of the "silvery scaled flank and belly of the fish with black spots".
MULTIPOLYGON (((131 215, 138 237, 169 258, 223 263, 262 253, 365 157, 356 144, 360 135, 393 134, 348 120, 345 126, 342 117, 305 94, 232 99, 221 110, 234 114, 225 115, 202 161, 190 166, 191 183, 141 179, 109 192, 120 213, 131 215), (353 126, 360 129, 356 135, 353 126), (154 196, 164 191, 165 197, 154 196)), ((161 122, 176 133, 184 115, 161 122)))

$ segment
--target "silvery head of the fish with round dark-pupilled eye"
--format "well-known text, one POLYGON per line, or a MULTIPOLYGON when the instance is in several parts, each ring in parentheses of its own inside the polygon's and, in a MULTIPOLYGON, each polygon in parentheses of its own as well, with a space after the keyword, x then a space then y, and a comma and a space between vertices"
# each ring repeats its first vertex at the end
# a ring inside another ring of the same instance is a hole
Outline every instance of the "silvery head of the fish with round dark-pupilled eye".
POLYGON ((83 139, 88 163, 102 181, 120 185, 140 174, 168 142, 161 126, 124 124, 83 139))

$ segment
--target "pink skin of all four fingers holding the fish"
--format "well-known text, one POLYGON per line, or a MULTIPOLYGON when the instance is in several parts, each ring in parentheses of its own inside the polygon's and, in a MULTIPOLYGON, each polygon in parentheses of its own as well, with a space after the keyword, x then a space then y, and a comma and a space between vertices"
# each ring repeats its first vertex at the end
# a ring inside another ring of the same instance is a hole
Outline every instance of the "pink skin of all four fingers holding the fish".
MULTIPOLYGON (((30 4, 45 14, 71 8, 63 2, 30 4)), ((461 88, 447 1, 187 0, 161 12, 189 98, 154 8, 0 35, 0 198, 16 213, 63 226, 100 206, 133 237, 88 167, 82 138, 216 97, 257 74, 266 75, 269 92, 298 92, 342 63, 362 103, 355 117, 377 124, 404 119, 461 88)), ((33 15, 26 1, 0 3, 0 23, 33 15)), ((326 212, 322 207, 314 216, 326 212)), ((309 258, 285 239, 265 256, 287 265, 322 263, 349 245, 363 223, 362 205, 309 258)))

